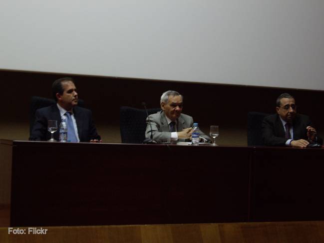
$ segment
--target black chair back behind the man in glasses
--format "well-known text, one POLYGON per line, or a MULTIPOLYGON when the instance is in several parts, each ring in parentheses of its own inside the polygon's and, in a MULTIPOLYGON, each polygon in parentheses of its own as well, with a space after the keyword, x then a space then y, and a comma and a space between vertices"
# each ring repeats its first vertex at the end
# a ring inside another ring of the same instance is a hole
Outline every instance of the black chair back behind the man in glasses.
POLYGON ((248 146, 263 146, 261 125, 267 113, 248 112, 248 146))

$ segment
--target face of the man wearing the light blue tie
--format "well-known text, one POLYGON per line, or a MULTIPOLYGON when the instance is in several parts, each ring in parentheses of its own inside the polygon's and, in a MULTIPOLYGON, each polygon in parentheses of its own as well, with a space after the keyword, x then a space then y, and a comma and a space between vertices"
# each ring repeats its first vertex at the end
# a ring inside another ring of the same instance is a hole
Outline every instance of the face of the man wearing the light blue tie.
POLYGON ((63 94, 56 94, 57 102, 65 110, 70 110, 77 105, 78 97, 76 87, 73 82, 62 82, 63 94))

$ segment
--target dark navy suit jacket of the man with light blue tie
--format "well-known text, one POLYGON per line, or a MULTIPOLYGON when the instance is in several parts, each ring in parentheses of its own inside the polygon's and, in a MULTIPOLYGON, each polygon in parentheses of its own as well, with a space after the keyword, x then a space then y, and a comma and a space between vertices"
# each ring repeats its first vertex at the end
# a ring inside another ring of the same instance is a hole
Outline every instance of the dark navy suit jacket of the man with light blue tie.
MULTIPOLYGON (((75 106, 73 108, 73 114, 80 142, 89 142, 91 139, 100 140, 100 136, 97 134, 97 130, 93 124, 90 110, 75 106)), ((47 120, 56 120, 57 126, 61 123, 61 115, 56 104, 36 110, 35 123, 32 127, 29 140, 46 141, 50 139, 50 133, 47 131, 47 120)), ((59 128, 54 133, 54 139, 59 140, 59 128)))

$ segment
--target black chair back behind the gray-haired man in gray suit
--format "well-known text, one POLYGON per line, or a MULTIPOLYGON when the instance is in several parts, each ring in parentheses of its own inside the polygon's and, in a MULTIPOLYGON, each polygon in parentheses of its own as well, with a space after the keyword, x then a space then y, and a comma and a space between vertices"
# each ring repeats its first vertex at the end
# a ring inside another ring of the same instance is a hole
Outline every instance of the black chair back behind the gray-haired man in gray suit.
MULTIPOLYGON (((161 108, 147 109, 148 114, 160 111, 161 108)), ((143 143, 146 130, 146 112, 142 109, 120 107, 120 135, 122 143, 143 143)))

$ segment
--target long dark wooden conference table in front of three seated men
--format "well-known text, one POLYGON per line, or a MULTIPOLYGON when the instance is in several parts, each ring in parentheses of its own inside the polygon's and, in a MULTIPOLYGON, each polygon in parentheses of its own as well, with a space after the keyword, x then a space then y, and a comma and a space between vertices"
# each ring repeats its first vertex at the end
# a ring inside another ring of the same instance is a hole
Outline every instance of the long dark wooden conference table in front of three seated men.
POLYGON ((324 220, 324 150, 0 141, 10 226, 324 220))

